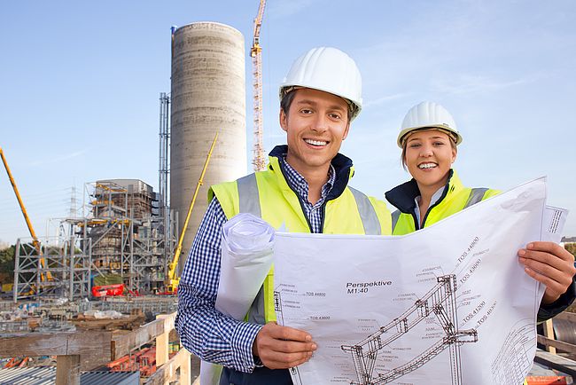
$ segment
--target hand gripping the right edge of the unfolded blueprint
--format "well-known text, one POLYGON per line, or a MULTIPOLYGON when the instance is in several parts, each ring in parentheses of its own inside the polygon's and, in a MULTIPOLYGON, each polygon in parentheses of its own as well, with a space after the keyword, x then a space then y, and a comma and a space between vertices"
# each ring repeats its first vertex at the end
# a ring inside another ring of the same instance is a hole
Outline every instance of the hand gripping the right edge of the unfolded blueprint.
POLYGON ((574 255, 554 242, 531 242, 518 250, 518 256, 526 274, 546 286, 543 304, 553 303, 563 295, 576 273, 574 255))

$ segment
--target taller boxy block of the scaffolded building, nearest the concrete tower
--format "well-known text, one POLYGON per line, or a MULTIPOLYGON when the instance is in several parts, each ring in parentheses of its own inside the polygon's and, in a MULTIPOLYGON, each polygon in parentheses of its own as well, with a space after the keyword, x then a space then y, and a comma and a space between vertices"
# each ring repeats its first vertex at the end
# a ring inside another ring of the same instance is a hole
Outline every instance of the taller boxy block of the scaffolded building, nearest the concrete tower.
POLYGON ((130 290, 163 287, 175 224, 160 215, 152 187, 133 179, 101 180, 86 184, 85 194, 90 214, 83 227, 95 266, 120 275, 130 290))

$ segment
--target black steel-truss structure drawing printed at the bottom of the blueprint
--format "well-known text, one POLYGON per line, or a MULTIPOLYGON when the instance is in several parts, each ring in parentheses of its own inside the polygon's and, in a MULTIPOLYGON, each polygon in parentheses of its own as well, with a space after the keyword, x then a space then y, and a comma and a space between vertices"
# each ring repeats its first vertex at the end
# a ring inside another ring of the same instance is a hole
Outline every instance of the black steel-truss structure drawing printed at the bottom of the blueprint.
POLYGON ((458 319, 456 312, 456 276, 445 275, 438 277, 438 285, 418 299, 416 303, 406 310, 400 317, 394 318, 386 326, 380 327, 377 333, 352 346, 342 346, 342 350, 352 353, 354 367, 358 374, 358 385, 385 384, 394 381, 404 374, 415 371, 426 364, 447 348, 450 350, 450 365, 452 371, 452 384, 462 383, 460 367, 460 345, 464 342, 478 342, 478 332, 475 329, 457 330, 458 319), (445 335, 440 341, 434 343, 405 365, 391 369, 386 373, 373 375, 378 351, 422 322, 425 318, 435 316, 444 329, 445 335))

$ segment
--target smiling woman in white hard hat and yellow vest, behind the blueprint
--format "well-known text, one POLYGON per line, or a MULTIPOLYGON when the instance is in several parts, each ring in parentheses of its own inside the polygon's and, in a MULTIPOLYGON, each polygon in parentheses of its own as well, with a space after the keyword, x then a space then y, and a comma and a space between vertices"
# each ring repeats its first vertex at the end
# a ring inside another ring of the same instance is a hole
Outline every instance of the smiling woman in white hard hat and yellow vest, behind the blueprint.
MULTIPOLYGON (((462 135, 446 108, 424 101, 404 117, 397 144, 412 179, 385 193, 393 212, 394 235, 415 232, 499 193, 464 187, 452 169, 462 135)), ((518 251, 528 275, 546 286, 539 319, 551 318, 574 299, 574 257, 553 242, 531 242, 518 251), (537 271, 547 271, 546 274, 537 271)))

